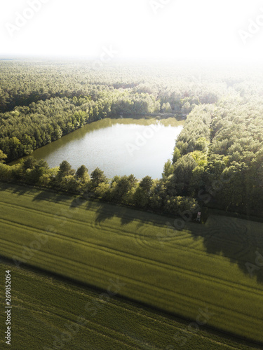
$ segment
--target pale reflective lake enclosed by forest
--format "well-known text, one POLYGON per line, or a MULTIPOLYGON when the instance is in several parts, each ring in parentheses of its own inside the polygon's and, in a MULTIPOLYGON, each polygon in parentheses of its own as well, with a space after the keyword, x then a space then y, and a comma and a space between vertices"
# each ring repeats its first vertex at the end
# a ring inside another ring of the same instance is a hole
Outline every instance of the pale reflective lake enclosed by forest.
POLYGON ((86 165, 89 174, 99 167, 109 178, 134 174, 137 179, 146 175, 159 179, 183 125, 175 118, 106 118, 37 149, 32 156, 46 160, 50 167, 62 160, 74 169, 86 165))

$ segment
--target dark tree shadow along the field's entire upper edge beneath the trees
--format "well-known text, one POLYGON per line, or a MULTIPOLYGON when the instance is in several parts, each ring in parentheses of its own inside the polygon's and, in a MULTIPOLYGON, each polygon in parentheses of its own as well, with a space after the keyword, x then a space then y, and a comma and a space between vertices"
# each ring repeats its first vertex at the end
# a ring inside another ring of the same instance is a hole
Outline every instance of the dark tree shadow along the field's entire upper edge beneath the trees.
MULTIPOLYGON (((173 218, 166 218, 103 202, 72 198, 72 196, 52 191, 36 191, 34 188, 10 183, 0 183, 0 190, 10 190, 11 193, 16 195, 32 194, 35 202, 43 200, 48 202, 70 202, 69 208, 81 207, 95 211, 95 223, 104 223, 111 218, 119 218, 119 223, 123 227, 133 222, 136 229, 141 228, 145 224, 158 226, 160 230, 162 229, 160 232, 166 232, 164 237, 161 236, 161 239, 164 239, 166 243, 171 241, 171 244, 173 244, 173 239, 176 238, 176 235, 180 235, 180 232, 173 230, 163 231, 163 228, 166 229, 167 227, 167 222, 171 223, 170 226, 173 229, 173 218)), ((256 276, 257 281, 263 283, 263 223, 215 215, 210 216, 205 225, 188 223, 185 228, 191 233, 193 238, 192 248, 198 242, 198 239, 201 238, 203 246, 208 253, 223 255, 231 262, 237 264, 244 274, 252 278, 256 276)), ((146 237, 151 242, 154 239, 157 243, 160 242, 160 237, 149 234, 146 237)), ((162 248, 161 245, 160 248, 162 248)), ((186 246, 185 248, 191 248, 191 246, 186 246)))

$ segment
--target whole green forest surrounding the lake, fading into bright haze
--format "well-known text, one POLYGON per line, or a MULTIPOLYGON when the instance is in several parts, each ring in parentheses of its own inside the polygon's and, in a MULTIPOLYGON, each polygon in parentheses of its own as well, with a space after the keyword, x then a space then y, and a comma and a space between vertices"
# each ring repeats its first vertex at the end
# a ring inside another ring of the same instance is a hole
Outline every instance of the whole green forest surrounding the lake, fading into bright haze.
POLYGON ((200 206, 259 215, 263 209, 262 70, 183 64, 2 61, 0 179, 78 193, 160 214, 200 206), (50 169, 36 148, 87 123, 125 113, 187 116, 161 179, 107 179, 103 169, 50 169), (7 164, 6 164, 7 163, 7 164))

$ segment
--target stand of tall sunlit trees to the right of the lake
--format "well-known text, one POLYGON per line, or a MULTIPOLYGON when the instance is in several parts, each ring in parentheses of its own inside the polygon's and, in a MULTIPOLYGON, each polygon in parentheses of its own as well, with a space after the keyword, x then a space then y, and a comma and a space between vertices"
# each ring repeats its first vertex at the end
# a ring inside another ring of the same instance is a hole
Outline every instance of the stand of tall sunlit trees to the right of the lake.
POLYGON ((194 109, 177 139, 176 148, 184 155, 175 157, 175 178, 170 180, 177 193, 205 198, 205 204, 221 209, 260 214, 262 113, 262 101, 245 99, 194 109))

